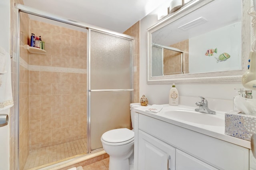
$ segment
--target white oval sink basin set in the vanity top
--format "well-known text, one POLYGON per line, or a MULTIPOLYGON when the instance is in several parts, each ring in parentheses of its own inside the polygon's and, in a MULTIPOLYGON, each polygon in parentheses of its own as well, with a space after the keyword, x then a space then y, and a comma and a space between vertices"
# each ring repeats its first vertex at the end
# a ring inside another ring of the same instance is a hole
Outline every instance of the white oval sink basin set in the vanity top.
POLYGON ((216 115, 211 115, 196 112, 192 109, 163 109, 162 114, 164 117, 169 119, 176 119, 201 125, 225 126, 224 116, 222 118, 218 113, 216 113, 216 115))

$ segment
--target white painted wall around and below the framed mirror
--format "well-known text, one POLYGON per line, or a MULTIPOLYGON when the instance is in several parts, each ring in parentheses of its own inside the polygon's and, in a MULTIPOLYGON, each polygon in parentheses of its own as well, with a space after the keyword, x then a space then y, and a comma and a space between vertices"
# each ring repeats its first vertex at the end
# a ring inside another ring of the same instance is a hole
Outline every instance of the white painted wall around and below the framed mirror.
MULTIPOLYGON (((168 0, 166 0, 168 4, 168 0)), ((170 1, 169 1, 170 2, 170 1)), ((166 7, 167 8, 167 7, 166 7)), ((158 8, 160 9, 160 8, 158 8)), ((140 20, 140 95, 146 95, 149 104, 168 103, 168 93, 171 84, 147 84, 147 32, 146 30, 156 24, 157 10, 154 10, 142 20, 140 20)), ((241 83, 188 83, 176 84, 176 88, 181 96, 198 97, 203 96, 213 99, 232 100, 237 95, 234 88, 242 88, 241 83)), ((254 92, 253 92, 254 93, 254 92)), ((198 98, 198 101, 200 99, 198 98)), ((210 103, 209 103, 210 107, 210 103)))

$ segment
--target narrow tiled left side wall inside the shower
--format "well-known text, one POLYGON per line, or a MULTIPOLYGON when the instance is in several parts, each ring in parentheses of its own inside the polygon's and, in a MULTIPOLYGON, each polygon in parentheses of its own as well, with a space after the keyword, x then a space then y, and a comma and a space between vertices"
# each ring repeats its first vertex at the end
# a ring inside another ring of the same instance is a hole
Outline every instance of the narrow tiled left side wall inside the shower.
POLYGON ((20 13, 20 83, 19 83, 19 167, 23 169, 29 154, 29 40, 28 14, 20 13))

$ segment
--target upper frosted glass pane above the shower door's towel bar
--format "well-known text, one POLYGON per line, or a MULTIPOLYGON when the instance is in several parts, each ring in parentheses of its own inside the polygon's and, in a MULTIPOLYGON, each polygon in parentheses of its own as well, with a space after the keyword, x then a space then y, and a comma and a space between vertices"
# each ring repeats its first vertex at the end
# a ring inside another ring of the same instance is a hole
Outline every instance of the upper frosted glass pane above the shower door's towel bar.
POLYGON ((130 89, 132 41, 91 31, 91 89, 130 89))

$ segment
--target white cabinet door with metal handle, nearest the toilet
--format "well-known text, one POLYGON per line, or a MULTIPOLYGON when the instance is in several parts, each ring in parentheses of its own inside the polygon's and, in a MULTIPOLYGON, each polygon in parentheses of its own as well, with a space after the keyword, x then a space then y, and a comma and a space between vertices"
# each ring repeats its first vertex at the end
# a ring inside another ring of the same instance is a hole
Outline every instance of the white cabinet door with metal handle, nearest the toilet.
POLYGON ((175 170, 175 148, 139 130, 138 170, 175 170))

